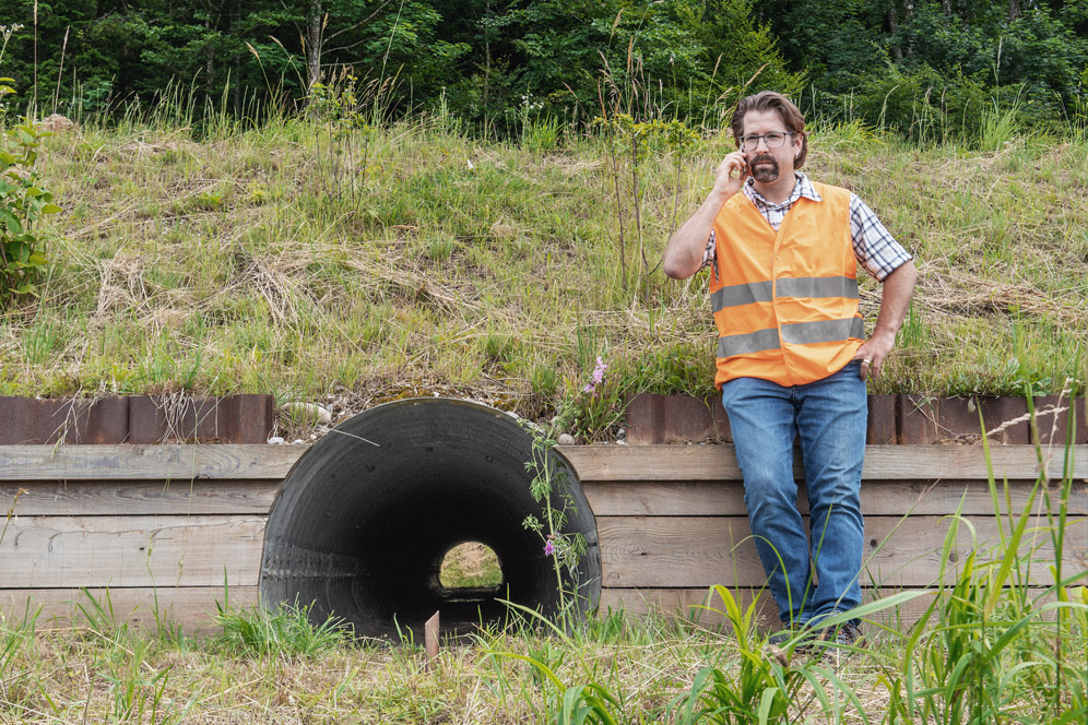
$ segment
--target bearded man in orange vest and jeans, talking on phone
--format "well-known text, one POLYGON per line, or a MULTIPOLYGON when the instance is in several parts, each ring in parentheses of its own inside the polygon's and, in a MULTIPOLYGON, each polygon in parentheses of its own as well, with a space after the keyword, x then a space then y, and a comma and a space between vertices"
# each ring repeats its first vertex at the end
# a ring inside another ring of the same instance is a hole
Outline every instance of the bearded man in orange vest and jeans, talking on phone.
MULTIPOLYGON (((669 239, 663 265, 676 280, 712 268, 714 382, 756 548, 783 625, 816 628, 861 604, 865 379, 879 375, 891 352, 916 272, 856 195, 797 170, 808 139, 789 98, 769 91, 744 98, 732 130, 740 151, 722 161, 710 195, 669 239), (867 340, 859 264, 884 285, 867 340), (811 540, 796 509, 795 438, 811 540)), ((824 637, 853 644, 856 625, 824 637)))

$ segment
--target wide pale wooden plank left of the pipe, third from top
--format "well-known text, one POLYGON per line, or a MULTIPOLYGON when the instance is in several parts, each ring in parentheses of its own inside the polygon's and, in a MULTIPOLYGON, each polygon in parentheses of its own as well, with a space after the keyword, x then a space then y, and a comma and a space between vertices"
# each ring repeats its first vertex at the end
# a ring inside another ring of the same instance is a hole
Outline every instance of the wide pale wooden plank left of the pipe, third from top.
POLYGON ((4 589, 253 585, 264 516, 19 516, 0 542, 4 589))

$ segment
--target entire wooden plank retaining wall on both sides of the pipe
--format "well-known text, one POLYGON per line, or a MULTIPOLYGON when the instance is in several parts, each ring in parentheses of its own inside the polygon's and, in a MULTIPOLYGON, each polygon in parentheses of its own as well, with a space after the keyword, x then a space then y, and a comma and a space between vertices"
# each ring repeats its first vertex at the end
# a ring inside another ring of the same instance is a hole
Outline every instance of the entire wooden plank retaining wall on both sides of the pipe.
MULTIPOLYGON (((115 616, 196 631, 224 599, 257 602, 264 526, 281 482, 304 445, 0 445, 0 614, 42 607, 39 622, 70 621, 108 587, 115 616)), ((565 447, 596 515, 602 609, 691 614, 712 584, 764 582, 748 537, 740 471, 730 445, 565 447)), ((1088 445, 1073 449, 1067 572, 1088 570, 1088 445)), ((1057 479, 1064 451, 1051 449, 1057 479)), ((992 449, 1022 510, 1037 478, 1036 449, 992 449)), ((800 473, 800 470, 799 470, 800 473)), ((947 516, 959 509, 978 535, 997 539, 983 449, 868 447, 863 512, 868 594, 932 585, 947 516)), ((805 502, 802 497, 801 508, 805 502)), ((1004 504, 1003 504, 1004 506, 1004 504)), ((1034 510, 1042 512, 1037 501, 1034 510)), ((1045 520, 1030 535, 1050 551, 1045 520)), ((957 558, 972 546, 961 527, 957 558)), ((1032 573, 1046 582, 1044 564, 1032 573)), ((768 597, 769 598, 769 597, 768 597)), ((695 610, 698 611, 698 610, 695 610)))

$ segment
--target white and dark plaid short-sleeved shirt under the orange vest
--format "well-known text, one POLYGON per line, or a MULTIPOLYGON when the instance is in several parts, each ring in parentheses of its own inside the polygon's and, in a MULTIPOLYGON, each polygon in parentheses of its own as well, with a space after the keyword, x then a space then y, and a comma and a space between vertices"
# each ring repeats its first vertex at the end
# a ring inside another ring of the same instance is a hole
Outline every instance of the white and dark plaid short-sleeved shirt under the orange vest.
MULTIPOLYGON (((787 212, 802 197, 813 201, 823 201, 808 177, 800 171, 796 171, 796 175, 797 183, 793 187, 793 192, 781 204, 770 203, 761 193, 756 191, 755 179, 750 176, 742 187, 744 195, 752 200, 752 203, 756 205, 756 209, 759 210, 759 213, 774 231, 778 231, 779 227, 782 226, 782 219, 785 218, 787 212)), ((910 252, 903 249, 884 228, 880 219, 876 218, 876 214, 868 207, 868 204, 859 199, 855 193, 850 194, 850 236, 854 242, 854 257, 858 258, 858 263, 880 282, 895 272, 900 264, 913 259, 910 252)), ((711 229, 707 249, 702 252, 702 266, 713 262, 717 254, 718 246, 714 241, 714 231, 711 229)))

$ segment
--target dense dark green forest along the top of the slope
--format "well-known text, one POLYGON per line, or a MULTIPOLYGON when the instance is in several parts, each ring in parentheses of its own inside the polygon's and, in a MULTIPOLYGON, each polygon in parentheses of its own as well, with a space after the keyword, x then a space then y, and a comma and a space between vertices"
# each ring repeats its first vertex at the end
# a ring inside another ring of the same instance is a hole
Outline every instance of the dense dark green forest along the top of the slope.
POLYGON ((912 138, 970 134, 995 104, 1030 124, 1088 105, 1088 0, 2 0, 0 22, 23 26, 9 103, 78 118, 170 95, 259 120, 344 73, 391 116, 497 136, 620 95, 712 127, 742 88, 912 138))

